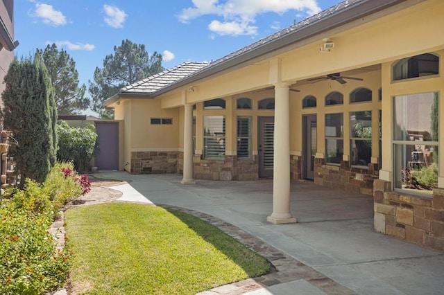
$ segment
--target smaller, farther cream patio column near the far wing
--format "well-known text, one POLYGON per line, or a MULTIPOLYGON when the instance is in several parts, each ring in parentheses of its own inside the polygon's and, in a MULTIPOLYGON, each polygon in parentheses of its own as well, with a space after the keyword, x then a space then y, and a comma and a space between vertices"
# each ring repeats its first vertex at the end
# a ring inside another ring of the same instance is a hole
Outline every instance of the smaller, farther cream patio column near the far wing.
POLYGON ((193 178, 193 105, 185 105, 183 127, 183 178, 181 184, 196 184, 193 178))

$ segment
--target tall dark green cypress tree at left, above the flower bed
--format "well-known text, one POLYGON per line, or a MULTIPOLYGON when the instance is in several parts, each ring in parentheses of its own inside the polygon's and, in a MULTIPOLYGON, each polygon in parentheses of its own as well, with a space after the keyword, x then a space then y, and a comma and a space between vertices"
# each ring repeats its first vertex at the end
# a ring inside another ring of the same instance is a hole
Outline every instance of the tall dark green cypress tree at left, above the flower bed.
POLYGON ((4 81, 3 125, 18 141, 10 146, 9 155, 21 185, 26 177, 43 182, 56 162, 57 109, 42 57, 12 61, 4 81))

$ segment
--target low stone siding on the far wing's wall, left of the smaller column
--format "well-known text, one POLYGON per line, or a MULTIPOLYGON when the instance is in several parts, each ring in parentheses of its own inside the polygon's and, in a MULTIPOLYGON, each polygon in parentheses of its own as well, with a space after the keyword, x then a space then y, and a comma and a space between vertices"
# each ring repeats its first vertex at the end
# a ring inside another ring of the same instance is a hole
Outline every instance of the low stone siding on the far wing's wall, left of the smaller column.
POLYGON ((177 173, 179 152, 132 152, 131 173, 177 173))

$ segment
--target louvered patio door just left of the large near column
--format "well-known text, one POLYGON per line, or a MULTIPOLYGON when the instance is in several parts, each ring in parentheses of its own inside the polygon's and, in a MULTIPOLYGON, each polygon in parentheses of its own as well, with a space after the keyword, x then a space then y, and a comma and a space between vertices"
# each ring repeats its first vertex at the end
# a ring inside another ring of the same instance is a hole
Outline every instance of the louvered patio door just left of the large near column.
POLYGON ((259 177, 273 177, 274 117, 258 117, 257 151, 259 154, 259 177))

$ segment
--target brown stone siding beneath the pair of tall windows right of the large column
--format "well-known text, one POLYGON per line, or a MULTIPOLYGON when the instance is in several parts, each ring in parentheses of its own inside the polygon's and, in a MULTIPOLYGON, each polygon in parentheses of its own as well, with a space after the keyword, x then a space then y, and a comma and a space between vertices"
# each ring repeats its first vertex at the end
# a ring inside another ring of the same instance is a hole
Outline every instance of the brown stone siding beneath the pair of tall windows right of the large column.
POLYGON ((314 184, 327 188, 373 195, 373 181, 378 173, 377 164, 368 164, 368 169, 364 169, 350 167, 348 161, 336 166, 326 165, 324 159, 314 159, 314 184))

